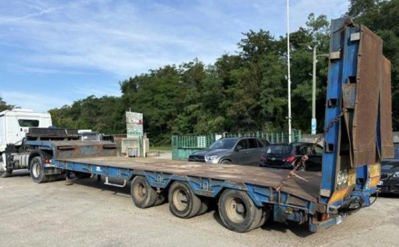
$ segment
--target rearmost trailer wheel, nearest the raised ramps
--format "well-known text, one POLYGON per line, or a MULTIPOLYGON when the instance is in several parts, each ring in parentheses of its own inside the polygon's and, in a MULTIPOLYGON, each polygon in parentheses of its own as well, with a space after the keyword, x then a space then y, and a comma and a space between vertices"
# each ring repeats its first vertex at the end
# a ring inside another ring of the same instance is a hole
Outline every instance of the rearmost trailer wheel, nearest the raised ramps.
POLYGON ((262 209, 256 207, 244 191, 225 190, 219 198, 219 214, 223 225, 234 232, 245 233, 259 227, 262 209))

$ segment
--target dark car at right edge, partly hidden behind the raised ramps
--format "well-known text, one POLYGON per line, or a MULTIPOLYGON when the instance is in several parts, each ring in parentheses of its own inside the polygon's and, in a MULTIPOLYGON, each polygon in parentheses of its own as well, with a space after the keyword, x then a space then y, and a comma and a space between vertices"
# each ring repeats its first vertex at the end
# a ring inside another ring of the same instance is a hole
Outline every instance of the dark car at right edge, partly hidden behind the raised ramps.
POLYGON ((378 187, 382 193, 399 194, 399 142, 394 143, 394 158, 381 160, 381 178, 378 187))

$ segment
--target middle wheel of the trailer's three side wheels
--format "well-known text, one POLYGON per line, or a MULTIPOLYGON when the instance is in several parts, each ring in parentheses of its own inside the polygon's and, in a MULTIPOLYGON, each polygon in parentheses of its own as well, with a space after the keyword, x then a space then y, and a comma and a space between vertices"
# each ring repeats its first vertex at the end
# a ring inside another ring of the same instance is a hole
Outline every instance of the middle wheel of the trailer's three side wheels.
POLYGON ((174 182, 168 194, 169 210, 182 219, 189 219, 200 212, 201 200, 185 182, 174 182))

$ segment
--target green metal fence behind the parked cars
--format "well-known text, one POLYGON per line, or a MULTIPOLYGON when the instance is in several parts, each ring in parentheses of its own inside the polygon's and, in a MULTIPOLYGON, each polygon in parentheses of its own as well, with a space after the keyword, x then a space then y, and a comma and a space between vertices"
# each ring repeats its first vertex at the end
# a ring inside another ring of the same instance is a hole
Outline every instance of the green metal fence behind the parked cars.
MULTIPOLYGON (((292 130, 292 141, 301 139, 301 130, 292 130)), ((244 133, 207 134, 207 135, 173 135, 172 136, 172 158, 187 160, 189 155, 195 151, 209 147, 221 137, 261 137, 270 143, 288 142, 288 132, 285 131, 256 131, 244 133)))

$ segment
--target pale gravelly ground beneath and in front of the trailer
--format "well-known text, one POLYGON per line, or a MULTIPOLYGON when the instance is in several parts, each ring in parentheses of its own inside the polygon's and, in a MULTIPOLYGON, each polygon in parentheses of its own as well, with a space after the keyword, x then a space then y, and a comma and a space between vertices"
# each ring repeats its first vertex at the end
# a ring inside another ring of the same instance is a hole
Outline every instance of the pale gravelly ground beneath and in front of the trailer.
POLYGON ((218 213, 189 220, 169 205, 134 207, 128 188, 94 179, 33 183, 26 171, 0 179, 0 247, 6 246, 399 246, 399 197, 385 196, 341 225, 316 234, 307 225, 268 222, 228 231, 218 213))

